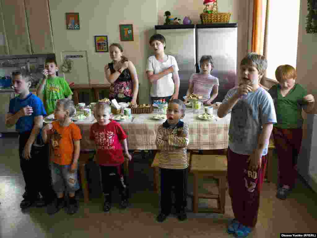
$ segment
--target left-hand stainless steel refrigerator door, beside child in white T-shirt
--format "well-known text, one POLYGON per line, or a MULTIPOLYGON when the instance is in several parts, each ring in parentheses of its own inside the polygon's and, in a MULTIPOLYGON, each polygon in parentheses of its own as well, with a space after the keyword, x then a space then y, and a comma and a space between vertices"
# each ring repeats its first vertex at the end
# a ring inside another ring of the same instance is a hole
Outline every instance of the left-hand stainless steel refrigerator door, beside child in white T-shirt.
POLYGON ((191 74, 195 73, 195 28, 156 30, 166 39, 165 54, 174 56, 178 64, 180 80, 178 98, 183 99, 191 74))

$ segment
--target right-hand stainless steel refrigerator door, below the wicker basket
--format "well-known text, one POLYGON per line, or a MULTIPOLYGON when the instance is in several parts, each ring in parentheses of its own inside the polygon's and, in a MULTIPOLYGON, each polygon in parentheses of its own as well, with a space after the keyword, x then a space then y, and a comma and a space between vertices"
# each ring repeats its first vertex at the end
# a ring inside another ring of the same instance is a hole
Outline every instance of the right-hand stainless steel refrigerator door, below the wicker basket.
POLYGON ((211 75, 219 79, 218 96, 214 102, 222 102, 228 90, 235 86, 237 76, 237 28, 198 28, 197 62, 203 55, 211 55, 214 69, 211 75))

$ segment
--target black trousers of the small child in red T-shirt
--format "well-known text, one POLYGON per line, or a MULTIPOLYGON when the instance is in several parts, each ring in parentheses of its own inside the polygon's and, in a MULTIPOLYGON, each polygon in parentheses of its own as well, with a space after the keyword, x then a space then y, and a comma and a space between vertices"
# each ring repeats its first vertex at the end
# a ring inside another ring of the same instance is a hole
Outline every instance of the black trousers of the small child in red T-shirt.
POLYGON ((121 194, 127 191, 128 185, 123 164, 120 166, 100 166, 100 171, 104 194, 111 195, 115 186, 118 187, 121 194))

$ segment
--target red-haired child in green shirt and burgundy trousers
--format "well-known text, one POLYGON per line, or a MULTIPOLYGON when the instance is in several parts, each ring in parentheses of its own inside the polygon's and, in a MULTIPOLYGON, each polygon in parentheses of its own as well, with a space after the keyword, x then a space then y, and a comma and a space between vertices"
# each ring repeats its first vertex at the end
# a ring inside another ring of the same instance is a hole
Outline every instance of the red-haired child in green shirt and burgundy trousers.
POLYGON ((314 113, 314 96, 295 83, 296 70, 291 65, 280 65, 275 71, 278 84, 269 89, 273 98, 277 123, 273 127, 273 137, 279 162, 279 183, 276 197, 286 199, 294 188, 297 176, 297 156, 301 148, 302 108, 306 113, 314 113))

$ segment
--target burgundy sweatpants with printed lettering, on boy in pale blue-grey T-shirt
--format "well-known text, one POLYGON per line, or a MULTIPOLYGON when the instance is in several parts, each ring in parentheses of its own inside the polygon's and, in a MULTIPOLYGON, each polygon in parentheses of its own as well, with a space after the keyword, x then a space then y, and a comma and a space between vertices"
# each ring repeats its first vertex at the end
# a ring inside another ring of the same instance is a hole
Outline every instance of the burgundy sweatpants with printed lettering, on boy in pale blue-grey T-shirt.
POLYGON ((261 168, 248 170, 249 155, 234 153, 228 148, 228 185, 232 210, 236 220, 244 226, 254 227, 260 204, 267 156, 262 156, 261 168))

